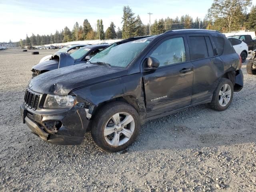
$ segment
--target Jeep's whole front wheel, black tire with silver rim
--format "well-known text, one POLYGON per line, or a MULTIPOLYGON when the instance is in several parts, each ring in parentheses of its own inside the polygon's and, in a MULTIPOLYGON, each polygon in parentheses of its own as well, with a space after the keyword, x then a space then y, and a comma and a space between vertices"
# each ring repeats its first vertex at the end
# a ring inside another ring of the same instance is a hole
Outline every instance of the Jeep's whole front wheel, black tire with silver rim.
POLYGON ((106 104, 93 121, 92 138, 107 152, 124 150, 134 142, 140 130, 138 112, 125 102, 106 104))

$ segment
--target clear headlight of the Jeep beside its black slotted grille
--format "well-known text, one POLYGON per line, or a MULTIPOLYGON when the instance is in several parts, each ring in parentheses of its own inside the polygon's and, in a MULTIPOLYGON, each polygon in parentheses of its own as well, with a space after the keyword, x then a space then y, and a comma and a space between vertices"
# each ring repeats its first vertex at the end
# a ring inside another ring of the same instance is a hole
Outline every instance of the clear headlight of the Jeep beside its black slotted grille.
POLYGON ((76 97, 71 95, 58 96, 58 95, 47 95, 44 101, 44 108, 70 108, 74 106, 76 97))

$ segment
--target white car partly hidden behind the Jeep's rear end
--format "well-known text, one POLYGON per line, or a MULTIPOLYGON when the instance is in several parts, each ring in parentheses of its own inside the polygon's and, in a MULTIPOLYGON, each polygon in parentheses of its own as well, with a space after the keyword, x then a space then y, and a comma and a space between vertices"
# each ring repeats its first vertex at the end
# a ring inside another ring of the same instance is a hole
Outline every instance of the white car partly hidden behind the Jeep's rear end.
POLYGON ((228 37, 228 40, 230 41, 236 53, 241 56, 242 63, 244 63, 248 56, 248 45, 237 38, 228 37))

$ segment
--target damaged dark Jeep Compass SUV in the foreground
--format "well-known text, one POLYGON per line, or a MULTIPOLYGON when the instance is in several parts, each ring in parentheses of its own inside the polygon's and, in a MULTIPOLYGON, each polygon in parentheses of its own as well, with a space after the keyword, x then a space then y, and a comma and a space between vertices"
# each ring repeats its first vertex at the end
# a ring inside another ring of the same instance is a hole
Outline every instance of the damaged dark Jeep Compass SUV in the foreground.
POLYGON ((173 30, 117 42, 86 64, 33 78, 21 105, 30 130, 53 144, 80 144, 84 134, 116 152, 140 125, 190 106, 230 105, 243 87, 241 58, 217 31, 173 30))

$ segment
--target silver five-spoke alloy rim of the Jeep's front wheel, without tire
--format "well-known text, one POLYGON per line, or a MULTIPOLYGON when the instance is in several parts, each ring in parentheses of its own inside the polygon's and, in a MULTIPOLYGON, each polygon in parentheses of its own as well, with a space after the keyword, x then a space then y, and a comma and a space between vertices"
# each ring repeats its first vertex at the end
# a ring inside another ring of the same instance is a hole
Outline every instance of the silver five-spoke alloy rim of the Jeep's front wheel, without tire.
POLYGON ((120 146, 128 142, 133 135, 135 122, 127 112, 114 114, 104 127, 104 138, 111 146, 120 146))

